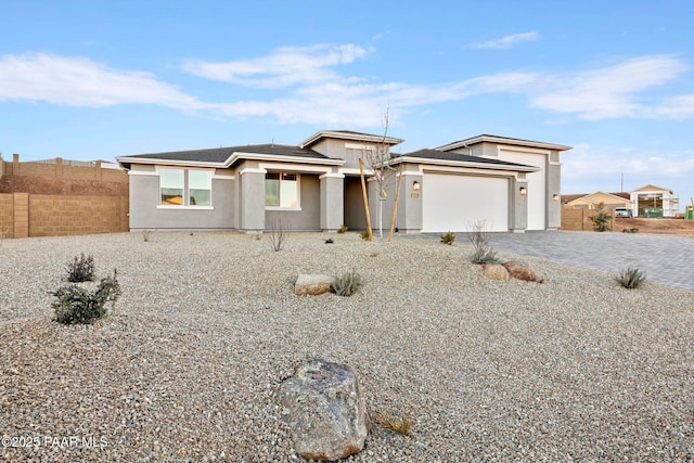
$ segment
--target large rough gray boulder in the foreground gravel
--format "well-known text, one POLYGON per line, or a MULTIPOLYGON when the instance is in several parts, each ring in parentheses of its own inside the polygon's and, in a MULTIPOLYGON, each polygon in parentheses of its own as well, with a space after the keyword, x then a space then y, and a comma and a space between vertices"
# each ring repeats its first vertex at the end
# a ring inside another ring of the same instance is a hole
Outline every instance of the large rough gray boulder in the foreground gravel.
POLYGON ((282 383, 278 402, 299 455, 335 461, 363 449, 367 402, 348 366, 309 361, 282 383))

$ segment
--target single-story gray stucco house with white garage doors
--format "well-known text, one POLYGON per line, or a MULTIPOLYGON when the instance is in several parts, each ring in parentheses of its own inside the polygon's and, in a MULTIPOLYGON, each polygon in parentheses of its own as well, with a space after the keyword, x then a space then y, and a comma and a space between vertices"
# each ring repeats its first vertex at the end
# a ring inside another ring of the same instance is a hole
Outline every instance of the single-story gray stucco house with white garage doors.
MULTIPOLYGON (((119 156, 130 175, 130 229, 295 231, 365 228, 359 158, 402 140, 346 130, 320 131, 298 146, 262 144, 119 156)), ((560 226, 560 153, 569 146, 479 136, 393 154, 382 196, 389 227, 401 172, 396 227, 406 233, 554 230, 560 226)), ((373 172, 365 166, 365 175, 373 172)))

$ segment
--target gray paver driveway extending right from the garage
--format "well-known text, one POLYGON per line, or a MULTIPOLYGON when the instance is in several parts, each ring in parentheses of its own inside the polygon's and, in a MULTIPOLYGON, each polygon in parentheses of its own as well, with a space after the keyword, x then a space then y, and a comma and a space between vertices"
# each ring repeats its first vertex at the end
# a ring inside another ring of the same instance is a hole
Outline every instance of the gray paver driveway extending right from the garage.
MULTIPOLYGON (((614 275, 638 267, 648 281, 694 291, 694 239, 677 235, 527 232, 490 233, 497 250, 539 257, 614 275)), ((465 233, 455 241, 464 243, 465 233)))

